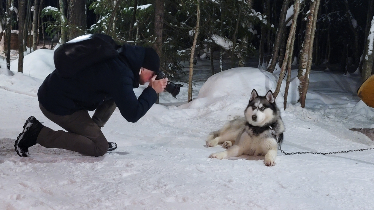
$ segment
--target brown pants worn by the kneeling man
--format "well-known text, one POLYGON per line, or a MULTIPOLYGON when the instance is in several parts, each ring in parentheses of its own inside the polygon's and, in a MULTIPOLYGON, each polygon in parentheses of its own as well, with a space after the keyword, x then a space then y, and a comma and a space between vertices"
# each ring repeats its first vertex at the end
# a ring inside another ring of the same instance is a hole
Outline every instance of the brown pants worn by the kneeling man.
POLYGON ((55 115, 47 111, 39 103, 42 113, 52 122, 66 131, 53 131, 44 127, 37 138, 37 143, 47 148, 62 148, 76 151, 88 156, 102 156, 107 153, 108 141, 101 132, 101 127, 108 121, 116 109, 113 100, 104 101, 93 114, 89 116, 87 110, 79 110, 72 115, 55 115))

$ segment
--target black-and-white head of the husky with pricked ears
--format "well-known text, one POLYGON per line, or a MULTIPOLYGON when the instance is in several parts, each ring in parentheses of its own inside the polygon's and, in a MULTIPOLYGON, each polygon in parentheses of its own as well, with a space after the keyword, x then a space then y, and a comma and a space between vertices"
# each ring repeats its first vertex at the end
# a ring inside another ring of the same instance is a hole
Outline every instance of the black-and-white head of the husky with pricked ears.
POLYGON ((272 122, 277 109, 273 92, 269 90, 265 96, 258 96, 255 89, 252 90, 251 98, 244 116, 249 124, 253 126, 264 126, 272 122))

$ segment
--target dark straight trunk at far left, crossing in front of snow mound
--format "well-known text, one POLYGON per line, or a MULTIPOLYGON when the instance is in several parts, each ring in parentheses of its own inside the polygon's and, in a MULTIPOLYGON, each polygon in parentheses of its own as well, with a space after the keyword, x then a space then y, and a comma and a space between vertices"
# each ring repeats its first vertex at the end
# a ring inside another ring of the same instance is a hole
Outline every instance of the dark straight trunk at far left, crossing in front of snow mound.
MULTIPOLYGON (((23 72, 24 59, 24 26, 25 26, 26 0, 18 1, 18 72, 23 72)), ((10 38, 10 37, 9 37, 10 38)))

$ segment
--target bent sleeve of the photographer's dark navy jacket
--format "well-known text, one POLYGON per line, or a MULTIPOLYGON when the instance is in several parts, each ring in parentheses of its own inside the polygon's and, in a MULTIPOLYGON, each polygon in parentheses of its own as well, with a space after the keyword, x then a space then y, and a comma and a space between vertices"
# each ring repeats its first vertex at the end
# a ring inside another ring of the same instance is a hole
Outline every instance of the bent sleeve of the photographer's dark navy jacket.
POLYGON ((112 76, 113 78, 109 78, 108 82, 103 84, 105 92, 113 97, 121 115, 128 122, 137 122, 156 103, 156 91, 147 87, 137 98, 132 87, 132 78, 123 75, 112 76))

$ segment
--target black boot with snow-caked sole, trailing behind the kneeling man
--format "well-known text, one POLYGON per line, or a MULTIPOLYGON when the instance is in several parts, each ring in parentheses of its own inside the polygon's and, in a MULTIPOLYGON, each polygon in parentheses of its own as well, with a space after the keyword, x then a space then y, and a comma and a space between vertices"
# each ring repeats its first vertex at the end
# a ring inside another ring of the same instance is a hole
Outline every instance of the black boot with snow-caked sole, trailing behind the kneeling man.
POLYGON ((36 144, 36 139, 44 125, 34 116, 29 117, 24 125, 24 130, 19 134, 14 144, 14 149, 21 157, 28 156, 28 148, 36 144))

